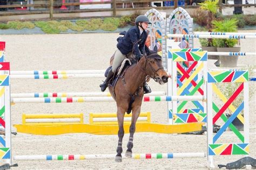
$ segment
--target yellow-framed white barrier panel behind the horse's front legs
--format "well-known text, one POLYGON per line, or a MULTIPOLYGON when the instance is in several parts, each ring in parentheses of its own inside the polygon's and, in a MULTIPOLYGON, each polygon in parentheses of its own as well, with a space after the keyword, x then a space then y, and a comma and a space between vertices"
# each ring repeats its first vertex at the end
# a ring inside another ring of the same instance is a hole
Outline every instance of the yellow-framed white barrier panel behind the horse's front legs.
MULTIPOLYGON (((132 114, 126 114, 124 116, 124 124, 131 124, 132 114)), ((137 123, 150 123, 151 113, 142 112, 139 115, 137 123)), ((117 125, 116 113, 90 113, 89 124, 93 125, 117 125)))

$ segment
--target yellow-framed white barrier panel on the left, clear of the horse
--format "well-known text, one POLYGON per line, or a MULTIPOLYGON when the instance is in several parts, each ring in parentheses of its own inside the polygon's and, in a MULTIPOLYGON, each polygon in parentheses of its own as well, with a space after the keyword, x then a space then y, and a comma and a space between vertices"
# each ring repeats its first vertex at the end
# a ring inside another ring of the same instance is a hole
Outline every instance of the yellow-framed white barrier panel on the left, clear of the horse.
POLYGON ((65 125, 83 124, 84 114, 22 114, 22 125, 65 125))

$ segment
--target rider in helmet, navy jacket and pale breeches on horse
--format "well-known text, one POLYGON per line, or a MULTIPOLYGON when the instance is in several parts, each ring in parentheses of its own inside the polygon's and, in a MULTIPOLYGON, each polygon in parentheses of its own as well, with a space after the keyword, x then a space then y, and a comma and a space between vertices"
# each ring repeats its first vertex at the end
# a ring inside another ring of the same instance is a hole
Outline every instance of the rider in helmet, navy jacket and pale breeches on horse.
MULTIPOLYGON (((150 24, 149 19, 140 15, 135 20, 135 26, 131 27, 123 38, 121 38, 117 43, 117 51, 114 54, 114 60, 112 69, 109 70, 105 81, 99 85, 102 91, 105 91, 107 86, 109 86, 109 81, 112 78, 114 72, 122 64, 123 60, 129 53, 133 51, 135 59, 138 61, 143 54, 149 54, 149 48, 145 46, 147 39, 147 26, 150 24), (133 50, 132 50, 133 48, 133 50)), ((147 83, 144 84, 144 94, 151 93, 150 87, 147 83)))

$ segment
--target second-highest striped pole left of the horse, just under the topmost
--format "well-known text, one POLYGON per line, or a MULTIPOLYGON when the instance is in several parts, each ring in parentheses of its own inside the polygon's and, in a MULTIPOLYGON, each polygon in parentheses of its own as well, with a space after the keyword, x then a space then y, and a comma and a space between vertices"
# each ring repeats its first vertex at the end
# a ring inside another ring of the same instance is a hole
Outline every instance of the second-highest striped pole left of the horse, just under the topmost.
POLYGON ((11 79, 76 79, 102 78, 104 74, 38 74, 38 75, 10 75, 11 79))

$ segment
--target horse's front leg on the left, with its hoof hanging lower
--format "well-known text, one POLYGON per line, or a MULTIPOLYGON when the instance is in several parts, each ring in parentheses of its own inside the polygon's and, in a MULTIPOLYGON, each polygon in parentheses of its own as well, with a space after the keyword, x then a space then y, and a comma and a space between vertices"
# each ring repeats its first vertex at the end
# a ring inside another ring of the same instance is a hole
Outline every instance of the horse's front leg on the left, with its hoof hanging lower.
POLYGON ((124 137, 124 114, 125 110, 118 107, 117 108, 117 121, 118 121, 118 145, 117 145, 117 155, 116 155, 116 161, 122 162, 122 141, 124 137))

